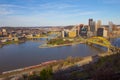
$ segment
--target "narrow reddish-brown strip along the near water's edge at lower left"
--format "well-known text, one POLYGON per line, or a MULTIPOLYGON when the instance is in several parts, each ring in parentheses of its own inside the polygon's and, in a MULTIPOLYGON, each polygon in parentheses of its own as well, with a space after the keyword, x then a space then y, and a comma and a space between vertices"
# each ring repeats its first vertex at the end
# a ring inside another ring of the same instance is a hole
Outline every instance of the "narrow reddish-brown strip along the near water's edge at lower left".
MULTIPOLYGON (((26 73, 30 73, 31 71, 34 70, 41 70, 44 66, 56 63, 57 60, 51 60, 51 61, 47 61, 47 62, 43 62, 41 64, 38 65, 33 65, 33 66, 28 66, 28 67, 24 67, 24 68, 19 68, 19 69, 14 69, 14 70, 10 70, 10 71, 5 71, 0 73, 0 78, 2 77, 8 77, 8 76, 14 76, 14 75, 20 75, 20 74, 26 74, 26 73)), ((0 79, 1 80, 1 79, 0 79)))

